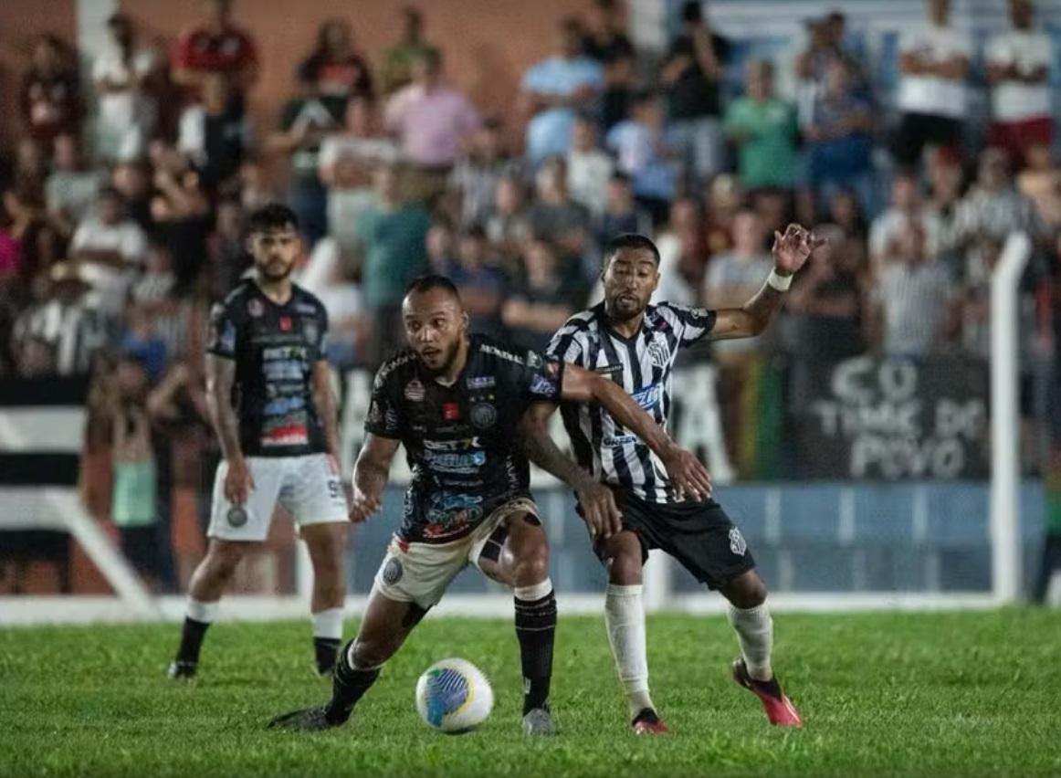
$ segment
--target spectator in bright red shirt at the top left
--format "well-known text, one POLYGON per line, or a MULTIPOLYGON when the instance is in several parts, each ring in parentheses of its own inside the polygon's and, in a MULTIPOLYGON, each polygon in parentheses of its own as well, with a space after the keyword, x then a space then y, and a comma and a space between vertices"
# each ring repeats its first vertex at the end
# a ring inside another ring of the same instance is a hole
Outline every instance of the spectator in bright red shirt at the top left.
POLYGON ((258 80, 258 47, 232 23, 232 0, 201 0, 203 21, 177 39, 173 52, 173 83, 184 87, 188 100, 199 99, 204 82, 221 76, 231 98, 232 110, 243 116, 246 90, 258 80))

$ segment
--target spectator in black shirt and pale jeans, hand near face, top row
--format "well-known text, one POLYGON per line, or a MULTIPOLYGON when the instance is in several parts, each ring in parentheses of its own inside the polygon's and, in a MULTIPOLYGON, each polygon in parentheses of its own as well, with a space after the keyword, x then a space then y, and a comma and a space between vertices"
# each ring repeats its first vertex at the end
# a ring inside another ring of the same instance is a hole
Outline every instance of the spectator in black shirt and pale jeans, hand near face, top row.
POLYGON ((705 180, 726 165, 721 85, 730 46, 703 18, 700 0, 682 6, 681 20, 661 80, 668 90, 668 119, 682 170, 705 180))

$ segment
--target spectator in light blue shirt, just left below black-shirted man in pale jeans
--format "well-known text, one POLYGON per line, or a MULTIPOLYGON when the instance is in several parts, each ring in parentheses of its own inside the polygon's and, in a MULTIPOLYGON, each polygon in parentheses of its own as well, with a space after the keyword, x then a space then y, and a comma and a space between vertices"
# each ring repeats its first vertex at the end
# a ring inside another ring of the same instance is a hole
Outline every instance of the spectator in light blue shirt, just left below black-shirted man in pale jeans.
POLYGON ((658 94, 642 92, 633 99, 630 118, 608 133, 608 148, 615 154, 619 170, 629 176, 633 196, 651 215, 653 224, 666 221, 675 179, 658 94))

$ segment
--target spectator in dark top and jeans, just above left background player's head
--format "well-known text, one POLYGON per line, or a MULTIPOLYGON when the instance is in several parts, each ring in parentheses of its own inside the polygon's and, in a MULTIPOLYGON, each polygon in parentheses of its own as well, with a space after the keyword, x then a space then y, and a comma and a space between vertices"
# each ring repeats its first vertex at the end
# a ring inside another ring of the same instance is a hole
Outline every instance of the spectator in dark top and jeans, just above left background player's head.
MULTIPOLYGON (((306 77, 299 73, 299 79, 306 77)), ((269 152, 288 156, 289 196, 308 247, 328 234, 328 190, 317 172, 320 149, 330 135, 342 132, 345 104, 326 101, 316 85, 301 81, 295 97, 283 105, 280 125, 268 136, 269 152)))

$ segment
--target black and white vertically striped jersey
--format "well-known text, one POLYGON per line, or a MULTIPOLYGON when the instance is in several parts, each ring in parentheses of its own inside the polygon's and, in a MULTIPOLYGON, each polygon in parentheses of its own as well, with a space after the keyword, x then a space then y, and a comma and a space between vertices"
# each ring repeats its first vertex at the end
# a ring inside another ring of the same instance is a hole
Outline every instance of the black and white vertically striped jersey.
MULTIPOLYGON (((553 335, 547 353, 610 378, 665 429, 678 349, 715 326, 715 312, 674 302, 648 306, 641 330, 626 339, 608 323, 604 304, 575 314, 553 335)), ((663 464, 639 437, 598 404, 563 402, 563 426, 578 464, 594 478, 649 502, 671 502, 663 464)))

